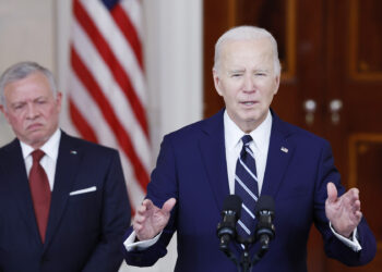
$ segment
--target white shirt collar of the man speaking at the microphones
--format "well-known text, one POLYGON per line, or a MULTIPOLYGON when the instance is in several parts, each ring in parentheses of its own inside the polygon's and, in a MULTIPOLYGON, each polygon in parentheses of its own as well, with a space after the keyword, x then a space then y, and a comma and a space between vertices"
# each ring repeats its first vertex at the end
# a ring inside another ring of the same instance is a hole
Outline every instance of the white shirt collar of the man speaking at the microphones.
MULTIPOLYGON (((246 133, 243 133, 237 124, 229 118, 227 110, 224 112, 224 127, 225 127, 225 143, 228 150, 232 150, 240 144, 240 139, 246 133)), ((262 152, 270 143, 272 128, 272 114, 267 112, 265 120, 249 135, 251 135, 255 147, 262 152)))

